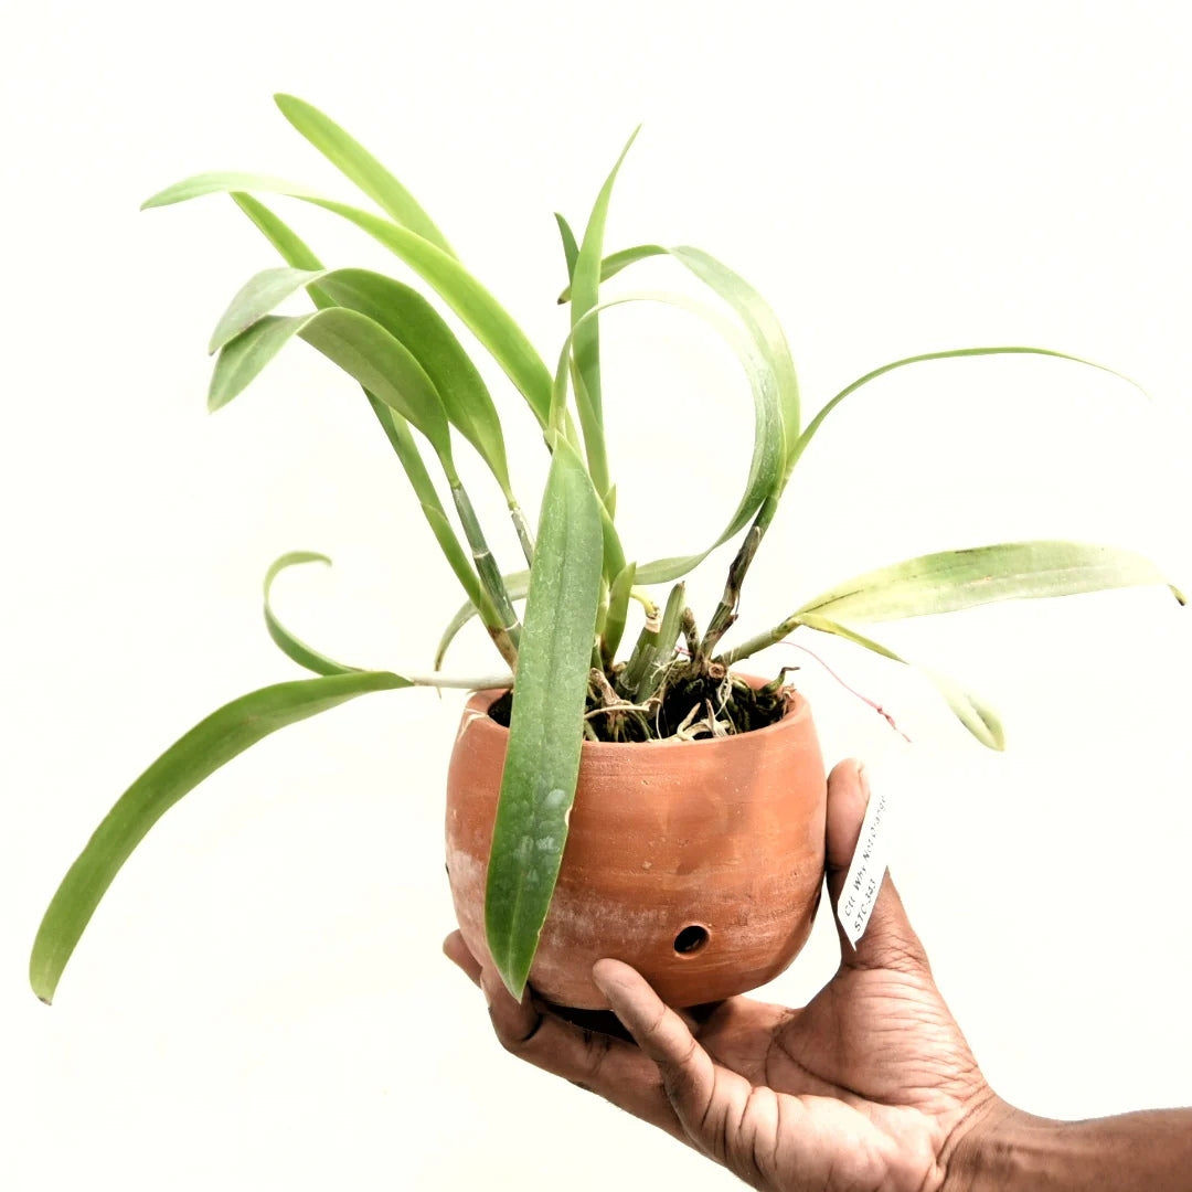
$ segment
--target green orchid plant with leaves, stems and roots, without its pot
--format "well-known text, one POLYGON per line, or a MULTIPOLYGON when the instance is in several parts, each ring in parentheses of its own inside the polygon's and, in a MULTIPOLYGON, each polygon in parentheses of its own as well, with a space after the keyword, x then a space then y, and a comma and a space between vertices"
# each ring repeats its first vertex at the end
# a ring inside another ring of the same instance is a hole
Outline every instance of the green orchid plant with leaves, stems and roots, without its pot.
MULTIPOLYGON (((695 739, 747 731, 775 719, 781 714, 782 675, 770 688, 755 693, 732 668, 796 629, 833 634, 905 662, 857 626, 991 601, 1165 582, 1148 559, 1111 546, 1066 541, 976 546, 883 566, 809 598, 796 597, 781 623, 735 645, 722 645, 737 619, 741 584, 794 468, 825 418, 850 395, 894 370, 954 356, 1031 354, 1103 366, 1029 347, 907 356, 865 373, 805 424, 795 367, 778 321, 740 275, 689 247, 644 244, 604 255, 606 217, 622 153, 596 198, 582 238, 555 216, 567 271, 560 302, 570 305, 571 318, 552 370, 467 271, 410 192, 372 154, 309 104, 291 95, 278 95, 277 103, 294 129, 377 210, 324 198, 275 178, 240 173, 199 174, 144 204, 160 207, 228 194, 285 262, 252 278, 218 321, 210 342, 216 362, 209 405, 217 410, 237 397, 290 340, 304 340, 334 361, 364 390, 465 602, 442 635, 433 673, 362 670, 305 645, 271 606, 271 586, 280 571, 329 560, 305 552, 278 559, 265 578, 266 625, 281 651, 315 677, 266 687, 224 704, 170 745, 120 796, 45 912, 30 963, 32 987, 43 1000, 54 997, 75 944, 120 865, 169 807, 275 730, 359 695, 426 685, 511 688, 486 926, 497 967, 520 995, 550 907, 585 738, 695 739), (505 420, 439 306, 422 290, 381 273, 324 267, 260 194, 322 207, 374 237, 454 315, 470 342, 499 365, 524 399, 551 454, 536 521, 515 492, 505 420), (651 256, 668 256, 693 274, 712 303, 657 293, 602 300, 603 280, 651 256), (275 313, 299 292, 310 298, 311 311, 275 313), (627 552, 616 521, 600 355, 601 312, 635 302, 673 303, 703 319, 735 352, 753 399, 752 454, 727 524, 709 532, 710 541, 699 553, 641 563, 627 552), (499 488, 524 557, 523 570, 505 573, 498 566, 457 468, 460 449, 474 452, 499 488), (687 607, 682 579, 734 540, 724 594, 701 628, 687 607), (657 586, 666 584, 673 586, 656 598, 657 586), (523 615, 517 610, 522 598, 523 615), (644 623, 622 658, 622 638, 634 606, 640 607, 644 623), (488 629, 504 669, 493 676, 452 678, 439 666, 454 635, 472 617, 488 629), (544 840, 550 848, 535 846, 544 840)), ((1175 595, 1182 603, 1182 596, 1175 595)), ((1001 726, 986 704, 950 679, 929 677, 977 740, 1002 747, 1001 726)))

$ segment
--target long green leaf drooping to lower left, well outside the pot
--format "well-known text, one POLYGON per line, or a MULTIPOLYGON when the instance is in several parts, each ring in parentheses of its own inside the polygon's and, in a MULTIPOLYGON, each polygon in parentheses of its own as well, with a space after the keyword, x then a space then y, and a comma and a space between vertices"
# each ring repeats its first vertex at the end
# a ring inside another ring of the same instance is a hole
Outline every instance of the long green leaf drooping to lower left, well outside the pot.
POLYGON ((33 942, 29 980, 42 1001, 58 979, 104 892, 145 833, 187 791, 269 733, 368 691, 409 687, 389 671, 278 683, 225 703, 176 740, 120 796, 67 871, 33 942))

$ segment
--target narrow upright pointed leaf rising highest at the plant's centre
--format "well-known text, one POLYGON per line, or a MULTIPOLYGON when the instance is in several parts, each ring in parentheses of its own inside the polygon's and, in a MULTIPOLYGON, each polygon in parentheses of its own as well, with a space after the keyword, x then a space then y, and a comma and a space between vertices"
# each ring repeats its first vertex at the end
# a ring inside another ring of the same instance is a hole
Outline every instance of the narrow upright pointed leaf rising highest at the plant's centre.
POLYGON ((592 213, 584 230, 584 240, 579 246, 579 255, 571 275, 571 356, 577 372, 576 405, 579 411, 579 426, 584 433, 584 448, 588 453, 588 467, 591 472, 596 491, 603 493, 610 485, 608 460, 604 452, 604 412, 600 379, 600 327, 595 312, 600 300, 601 257, 604 252, 604 224, 608 221, 608 206, 613 198, 613 186, 633 142, 637 139, 640 125, 616 159, 604 185, 601 187, 592 213))

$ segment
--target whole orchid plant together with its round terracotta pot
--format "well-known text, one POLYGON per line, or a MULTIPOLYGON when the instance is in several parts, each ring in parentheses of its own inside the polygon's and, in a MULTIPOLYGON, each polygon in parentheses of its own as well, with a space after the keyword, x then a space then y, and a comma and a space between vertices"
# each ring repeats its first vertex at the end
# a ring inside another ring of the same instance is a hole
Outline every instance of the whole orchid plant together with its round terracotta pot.
MULTIPOLYGON (((224 704, 119 797, 45 912, 30 967, 43 1000, 54 997, 120 865, 179 799, 281 727, 360 695, 412 687, 477 691, 448 776, 448 871, 468 946, 496 964, 515 994, 533 981, 560 1004, 600 1006, 586 974, 592 958, 607 955, 634 963, 678 1004, 743 992, 776 975, 802 945, 824 863, 824 766, 807 701, 786 683, 784 671, 757 677, 741 673, 743 663, 796 629, 902 662, 869 635, 870 622, 1166 582, 1150 560, 1117 546, 966 546, 887 563, 826 591, 791 591, 790 614, 781 622, 734 635, 743 584, 788 482, 824 421, 851 395, 894 370, 956 356, 1045 355, 1074 367, 1101 366, 1030 347, 932 352, 867 372, 805 420, 786 336, 744 278, 689 247, 606 253, 606 219, 625 153, 582 236, 555 217, 570 330, 544 359, 372 154, 309 104, 290 95, 277 103, 373 207, 238 173, 199 174, 145 203, 230 195, 284 262, 253 277, 218 319, 209 405, 217 410, 237 398, 292 340, 335 362, 362 390, 391 443, 412 490, 411 521, 424 521, 434 535, 459 581, 462 606, 428 672, 349 666, 306 645, 271 604, 283 570, 327 560, 313 552, 278 559, 265 579, 266 625, 310 677, 224 704), (324 266, 260 195, 342 217, 390 249, 415 284, 324 266), (654 256, 693 275, 708 300, 603 296, 603 281, 654 256), (309 311, 278 313, 299 294, 310 299, 309 311), (708 527, 704 548, 640 559, 632 517, 628 526, 620 520, 607 451, 601 315, 658 302, 681 306, 733 349, 752 395, 753 443, 738 504, 726 524, 708 527), (550 453, 533 511, 522 504, 508 462, 511 420, 498 414, 476 352, 503 371, 550 453), (511 520, 522 555, 511 569, 495 558, 492 510, 482 515, 484 503, 473 503, 457 466, 461 453, 483 461, 492 495, 499 493, 503 516, 511 520), (724 591, 701 620, 688 607, 683 579, 726 545, 733 554, 724 591), (473 617, 488 631, 499 665, 490 676, 453 677, 441 664, 473 617), (774 781, 778 774, 781 783, 774 781)), ((989 707, 955 682, 930 677, 982 745, 1002 747, 989 707)))

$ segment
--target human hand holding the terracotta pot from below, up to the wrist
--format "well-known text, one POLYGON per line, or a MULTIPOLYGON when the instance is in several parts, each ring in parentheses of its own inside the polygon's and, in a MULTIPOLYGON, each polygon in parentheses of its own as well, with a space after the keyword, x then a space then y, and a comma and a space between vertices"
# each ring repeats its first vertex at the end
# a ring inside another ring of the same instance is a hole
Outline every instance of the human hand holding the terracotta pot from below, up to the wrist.
MULTIPOLYGON (((868 800, 852 762, 828 778, 833 912, 868 800)), ((838 926, 839 932, 839 926, 838 926)), ((619 961, 592 976, 634 1042, 585 1030, 443 950, 489 1000, 514 1055, 564 1076, 772 1192, 938 1192, 961 1153, 1014 1111, 991 1091, 936 988, 889 876, 856 950, 803 1008, 750 998, 676 1012, 619 961)), ((951 1177, 951 1178, 950 1178, 951 1177)))

